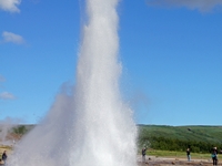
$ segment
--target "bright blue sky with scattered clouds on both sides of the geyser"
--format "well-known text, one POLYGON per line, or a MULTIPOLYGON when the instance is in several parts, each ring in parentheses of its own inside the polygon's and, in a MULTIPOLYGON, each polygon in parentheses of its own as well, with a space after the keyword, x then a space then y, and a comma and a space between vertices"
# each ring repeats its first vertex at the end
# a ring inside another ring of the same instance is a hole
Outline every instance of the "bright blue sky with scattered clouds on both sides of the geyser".
MULTIPOLYGON (((81 1, 0 0, 0 117, 37 123, 74 83, 81 1)), ((122 0, 122 92, 135 123, 221 125, 221 0, 122 0)))

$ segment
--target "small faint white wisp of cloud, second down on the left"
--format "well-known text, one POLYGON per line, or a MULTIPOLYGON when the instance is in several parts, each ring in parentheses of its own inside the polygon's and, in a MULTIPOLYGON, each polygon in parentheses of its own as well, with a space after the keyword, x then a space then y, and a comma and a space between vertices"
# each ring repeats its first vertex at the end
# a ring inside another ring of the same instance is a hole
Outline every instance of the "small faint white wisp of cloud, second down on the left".
POLYGON ((3 43, 8 43, 8 42, 16 43, 16 44, 23 44, 24 43, 24 40, 21 35, 14 34, 12 32, 4 31, 2 33, 2 37, 3 37, 3 41, 2 41, 3 43))

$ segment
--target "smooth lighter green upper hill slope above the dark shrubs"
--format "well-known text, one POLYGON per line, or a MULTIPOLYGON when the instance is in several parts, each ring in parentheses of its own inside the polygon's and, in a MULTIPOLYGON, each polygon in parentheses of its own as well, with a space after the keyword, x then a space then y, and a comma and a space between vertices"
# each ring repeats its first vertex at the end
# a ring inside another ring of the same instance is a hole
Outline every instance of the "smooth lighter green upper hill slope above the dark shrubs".
POLYGON ((222 144, 222 126, 164 126, 138 125, 139 137, 167 137, 180 141, 222 144))

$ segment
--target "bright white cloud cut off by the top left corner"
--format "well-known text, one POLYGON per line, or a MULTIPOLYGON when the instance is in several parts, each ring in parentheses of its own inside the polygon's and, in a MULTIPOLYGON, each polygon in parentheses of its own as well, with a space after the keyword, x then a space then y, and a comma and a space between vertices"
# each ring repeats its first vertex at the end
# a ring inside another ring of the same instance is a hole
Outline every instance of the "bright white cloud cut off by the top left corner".
POLYGON ((20 12, 18 6, 21 0, 0 0, 0 9, 9 12, 20 12))

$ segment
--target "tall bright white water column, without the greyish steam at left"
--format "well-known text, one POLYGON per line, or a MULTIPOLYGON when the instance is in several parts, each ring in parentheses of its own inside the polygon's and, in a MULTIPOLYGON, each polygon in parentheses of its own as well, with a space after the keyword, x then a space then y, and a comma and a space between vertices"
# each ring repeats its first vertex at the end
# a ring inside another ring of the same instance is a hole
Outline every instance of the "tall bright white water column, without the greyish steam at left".
POLYGON ((135 125, 119 91, 117 0, 88 0, 77 73, 77 165, 135 165, 135 125), (83 148, 82 148, 83 147, 83 148), (85 154, 87 152, 87 154, 85 154), (87 163, 89 162, 89 163, 87 163))

